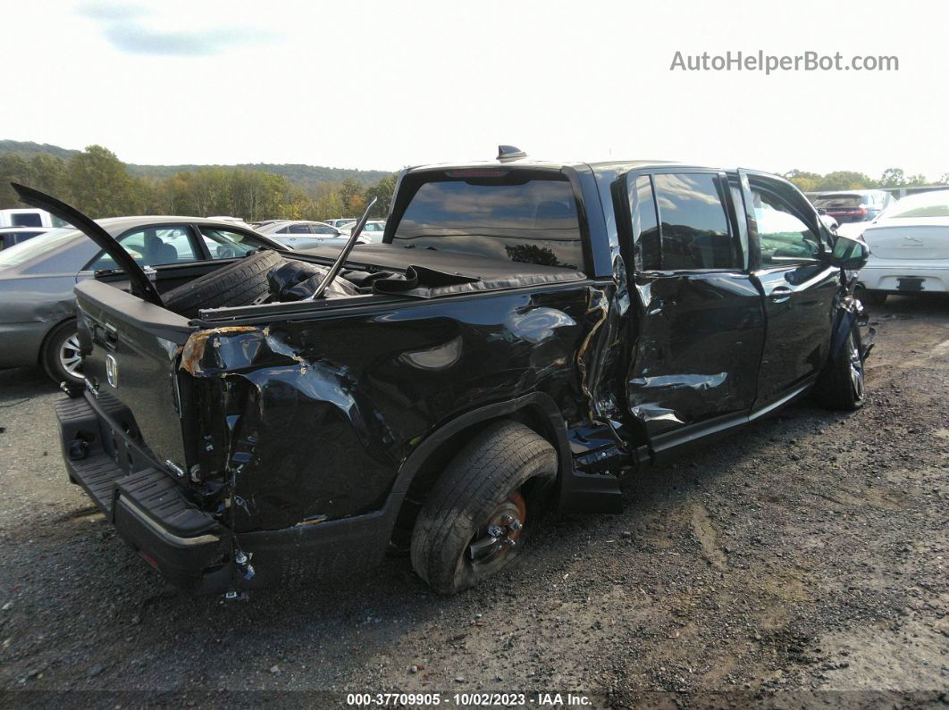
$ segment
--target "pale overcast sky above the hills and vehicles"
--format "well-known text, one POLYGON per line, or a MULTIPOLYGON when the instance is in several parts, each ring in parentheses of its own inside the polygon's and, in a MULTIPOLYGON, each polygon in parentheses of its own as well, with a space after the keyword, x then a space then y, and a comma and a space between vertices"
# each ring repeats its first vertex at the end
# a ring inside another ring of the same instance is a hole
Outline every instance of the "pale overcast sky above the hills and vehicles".
POLYGON ((0 138, 134 163, 493 157, 949 172, 941 3, 5 0, 0 138), (681 72, 683 54, 899 71, 681 72))

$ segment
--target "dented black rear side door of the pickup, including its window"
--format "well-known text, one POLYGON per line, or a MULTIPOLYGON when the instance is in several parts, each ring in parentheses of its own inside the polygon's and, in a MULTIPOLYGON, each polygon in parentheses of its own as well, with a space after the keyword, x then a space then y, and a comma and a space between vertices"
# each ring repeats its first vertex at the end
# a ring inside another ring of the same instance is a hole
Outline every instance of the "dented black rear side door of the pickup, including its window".
POLYGON ((764 314, 731 197, 736 176, 630 173, 623 190, 637 312, 626 400, 661 452, 747 416, 764 314))

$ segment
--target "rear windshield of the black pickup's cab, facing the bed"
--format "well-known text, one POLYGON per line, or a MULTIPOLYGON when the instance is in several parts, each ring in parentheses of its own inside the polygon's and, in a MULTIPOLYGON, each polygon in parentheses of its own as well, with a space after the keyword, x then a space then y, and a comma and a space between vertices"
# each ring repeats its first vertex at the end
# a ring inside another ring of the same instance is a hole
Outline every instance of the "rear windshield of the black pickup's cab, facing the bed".
POLYGON ((516 171, 497 173, 422 183, 406 206, 392 243, 582 268, 580 219, 570 183, 559 176, 529 179, 516 171))

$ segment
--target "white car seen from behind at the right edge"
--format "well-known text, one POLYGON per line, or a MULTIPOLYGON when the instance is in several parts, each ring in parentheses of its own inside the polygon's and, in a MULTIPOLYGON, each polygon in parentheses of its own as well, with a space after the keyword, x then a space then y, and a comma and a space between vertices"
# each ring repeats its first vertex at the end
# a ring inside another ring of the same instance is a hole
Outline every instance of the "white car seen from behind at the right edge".
POLYGON ((864 229, 870 259, 860 271, 863 299, 949 291, 949 189, 903 197, 864 229))

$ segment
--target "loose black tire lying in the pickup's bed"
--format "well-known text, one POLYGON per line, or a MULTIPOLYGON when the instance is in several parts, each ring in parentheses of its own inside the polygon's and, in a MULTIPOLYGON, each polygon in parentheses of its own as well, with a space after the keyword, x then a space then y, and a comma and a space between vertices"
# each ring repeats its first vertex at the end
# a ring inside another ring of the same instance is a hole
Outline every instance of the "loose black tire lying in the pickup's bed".
POLYGON ((162 294, 165 308, 194 318, 202 308, 249 305, 268 293, 267 275, 284 261, 276 251, 259 251, 162 294))

